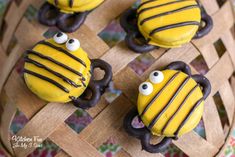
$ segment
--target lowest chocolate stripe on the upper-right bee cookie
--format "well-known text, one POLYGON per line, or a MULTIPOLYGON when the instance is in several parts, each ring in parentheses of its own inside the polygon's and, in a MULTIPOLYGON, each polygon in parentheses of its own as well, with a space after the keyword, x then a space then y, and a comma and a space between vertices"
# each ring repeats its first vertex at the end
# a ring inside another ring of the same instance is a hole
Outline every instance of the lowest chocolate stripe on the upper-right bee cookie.
POLYGON ((189 25, 197 25, 197 26, 199 26, 200 23, 197 22, 197 21, 187 21, 187 22, 171 24, 171 25, 167 25, 167 26, 156 28, 156 29, 152 30, 149 35, 152 36, 153 34, 155 34, 157 32, 161 32, 161 31, 164 31, 164 30, 168 30, 168 29, 172 29, 172 28, 177 28, 177 27, 189 26, 189 25))

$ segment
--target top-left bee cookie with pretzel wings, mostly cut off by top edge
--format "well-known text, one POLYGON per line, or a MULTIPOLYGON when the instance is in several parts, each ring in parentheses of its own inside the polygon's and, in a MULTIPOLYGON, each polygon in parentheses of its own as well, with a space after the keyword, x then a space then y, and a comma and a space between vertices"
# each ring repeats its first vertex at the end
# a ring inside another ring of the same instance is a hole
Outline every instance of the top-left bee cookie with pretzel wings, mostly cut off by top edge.
POLYGON ((104 0, 47 0, 39 10, 39 22, 63 32, 76 31, 88 13, 104 0))

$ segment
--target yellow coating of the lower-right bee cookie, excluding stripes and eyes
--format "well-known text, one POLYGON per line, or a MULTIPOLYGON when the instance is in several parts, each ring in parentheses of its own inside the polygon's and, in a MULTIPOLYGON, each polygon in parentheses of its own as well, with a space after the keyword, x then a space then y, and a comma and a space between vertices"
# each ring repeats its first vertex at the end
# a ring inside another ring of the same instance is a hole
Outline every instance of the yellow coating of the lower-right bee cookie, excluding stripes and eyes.
MULTIPOLYGON (((137 108, 139 114, 141 114, 144 108, 149 104, 149 102, 154 98, 154 96, 165 86, 165 84, 170 80, 170 78, 177 72, 175 70, 164 70, 162 71, 164 74, 164 80, 161 83, 153 84, 153 92, 148 95, 144 96, 143 94, 139 93, 137 108)), ((145 126, 149 126, 150 122, 153 118, 163 109, 163 107, 169 102, 171 97, 175 94, 178 87, 183 83, 187 75, 183 72, 172 81, 166 89, 163 90, 161 95, 157 98, 157 100, 152 104, 152 106, 147 110, 147 112, 141 117, 145 126)), ((147 80, 147 82, 150 82, 147 80)), ((177 97, 174 101, 170 104, 168 109, 161 115, 160 119, 155 123, 153 128, 151 129, 152 134, 158 136, 167 136, 167 137, 174 137, 174 133, 181 124, 181 122, 186 118, 189 111, 193 108, 198 100, 203 97, 202 91, 200 87, 197 87, 196 90, 191 94, 191 96, 187 99, 186 103, 183 107, 179 110, 173 120, 169 123, 166 127, 165 131, 162 132, 162 129, 166 122, 170 119, 170 117, 176 112, 179 108, 180 104, 186 98, 188 93, 195 87, 197 83, 190 78, 188 83, 181 89, 177 97)), ((187 120, 185 125, 180 130, 178 136, 181 136, 191 130, 193 130, 201 120, 204 108, 204 101, 196 108, 193 112, 191 117, 187 120)))

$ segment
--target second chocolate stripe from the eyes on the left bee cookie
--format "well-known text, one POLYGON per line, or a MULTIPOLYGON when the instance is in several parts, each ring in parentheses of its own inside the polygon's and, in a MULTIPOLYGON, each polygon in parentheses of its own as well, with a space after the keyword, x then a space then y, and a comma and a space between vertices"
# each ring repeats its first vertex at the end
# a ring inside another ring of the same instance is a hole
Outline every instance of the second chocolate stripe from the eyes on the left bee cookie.
POLYGON ((27 50, 27 53, 28 53, 28 54, 31 54, 31 55, 35 55, 35 56, 37 56, 37 57, 39 57, 39 58, 41 58, 41 59, 48 60, 48 61, 50 61, 50 62, 52 62, 52 63, 55 63, 56 65, 61 66, 62 68, 66 69, 66 70, 69 70, 70 72, 72 72, 72 73, 74 73, 74 74, 76 74, 76 75, 82 77, 83 79, 85 79, 85 78, 83 77, 82 73, 80 73, 80 72, 78 72, 78 71, 76 71, 76 70, 70 68, 69 66, 67 66, 67 65, 65 65, 65 64, 63 64, 63 63, 61 63, 61 62, 56 61, 55 59, 53 59, 53 58, 51 58, 51 57, 45 56, 45 55, 43 55, 43 54, 41 54, 41 53, 38 53, 38 52, 36 52, 36 51, 34 51, 34 50, 27 50))

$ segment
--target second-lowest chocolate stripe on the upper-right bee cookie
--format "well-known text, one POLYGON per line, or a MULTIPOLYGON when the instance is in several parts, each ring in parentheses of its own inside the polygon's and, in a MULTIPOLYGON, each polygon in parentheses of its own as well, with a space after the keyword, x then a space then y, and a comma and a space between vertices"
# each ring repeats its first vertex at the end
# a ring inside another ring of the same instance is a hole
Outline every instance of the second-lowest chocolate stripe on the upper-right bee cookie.
POLYGON ((165 12, 165 13, 161 13, 161 14, 157 14, 157 15, 154 15, 154 16, 150 16, 150 17, 148 17, 146 19, 143 19, 140 22, 140 25, 143 25, 145 22, 153 20, 155 18, 159 18, 159 17, 162 17, 162 16, 166 16, 166 15, 170 15, 170 14, 173 14, 173 13, 178 13, 178 12, 181 12, 181 11, 185 11, 185 10, 189 10, 189 9, 194 9, 194 8, 198 8, 198 5, 185 6, 185 7, 178 8, 178 9, 175 9, 175 10, 171 10, 171 11, 168 11, 168 12, 165 12))

